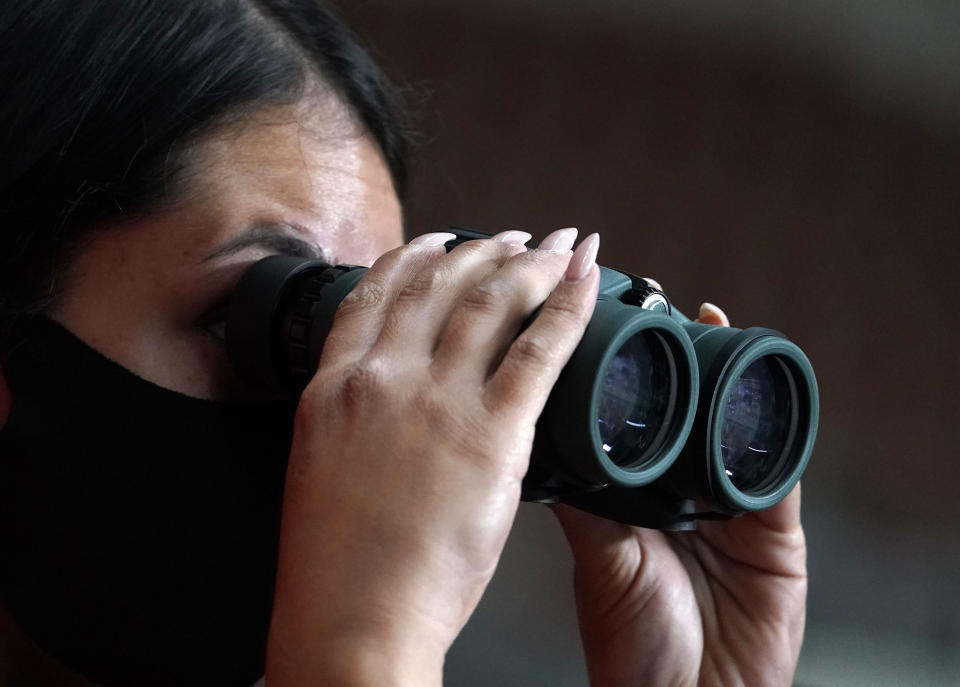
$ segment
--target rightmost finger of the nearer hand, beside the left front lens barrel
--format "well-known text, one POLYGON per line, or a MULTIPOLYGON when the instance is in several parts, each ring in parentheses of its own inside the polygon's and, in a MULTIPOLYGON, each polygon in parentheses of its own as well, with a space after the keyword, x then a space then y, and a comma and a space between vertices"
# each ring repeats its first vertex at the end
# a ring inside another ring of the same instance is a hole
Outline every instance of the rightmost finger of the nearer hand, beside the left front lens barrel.
POLYGON ((574 251, 563 280, 533 323, 511 344, 484 392, 487 408, 543 410, 550 389, 593 314, 600 283, 600 237, 591 234, 574 251))

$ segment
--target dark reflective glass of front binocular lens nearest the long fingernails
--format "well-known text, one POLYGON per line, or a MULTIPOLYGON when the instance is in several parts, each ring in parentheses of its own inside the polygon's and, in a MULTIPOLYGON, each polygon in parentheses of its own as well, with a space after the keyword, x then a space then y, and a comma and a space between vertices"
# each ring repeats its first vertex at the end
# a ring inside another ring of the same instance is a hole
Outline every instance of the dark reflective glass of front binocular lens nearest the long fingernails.
POLYGON ((627 339, 607 365, 597 422, 616 465, 643 467, 659 450, 676 405, 676 380, 670 347, 649 330, 627 339))

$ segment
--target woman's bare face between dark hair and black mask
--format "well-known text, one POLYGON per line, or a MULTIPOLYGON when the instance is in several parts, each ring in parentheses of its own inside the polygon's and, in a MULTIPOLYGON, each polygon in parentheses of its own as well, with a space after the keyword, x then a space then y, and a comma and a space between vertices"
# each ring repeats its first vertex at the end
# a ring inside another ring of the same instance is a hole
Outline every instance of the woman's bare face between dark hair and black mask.
POLYGON ((218 309, 244 270, 276 253, 368 265, 401 243, 401 209, 377 146, 332 96, 260 111, 190 160, 174 207, 93 235, 51 315, 141 377, 224 399, 239 384, 218 309))

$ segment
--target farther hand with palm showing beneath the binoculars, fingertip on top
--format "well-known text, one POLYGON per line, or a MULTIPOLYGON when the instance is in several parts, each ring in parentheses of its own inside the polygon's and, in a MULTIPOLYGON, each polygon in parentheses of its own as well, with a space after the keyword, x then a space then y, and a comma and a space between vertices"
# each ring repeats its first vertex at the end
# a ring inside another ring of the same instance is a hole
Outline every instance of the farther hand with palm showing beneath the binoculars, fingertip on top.
MULTIPOLYGON (((700 321, 729 324, 714 306, 700 321)), ((695 532, 554 512, 573 549, 593 687, 791 683, 807 595, 799 485, 769 510, 695 532)))

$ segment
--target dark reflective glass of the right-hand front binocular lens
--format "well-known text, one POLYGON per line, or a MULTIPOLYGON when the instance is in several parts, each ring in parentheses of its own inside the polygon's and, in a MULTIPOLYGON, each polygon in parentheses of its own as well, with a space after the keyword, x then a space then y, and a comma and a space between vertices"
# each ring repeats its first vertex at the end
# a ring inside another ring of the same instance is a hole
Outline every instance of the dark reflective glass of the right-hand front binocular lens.
POLYGON ((796 426, 796 386, 777 356, 751 363, 730 388, 720 426, 723 467, 733 486, 756 491, 780 472, 796 426))

